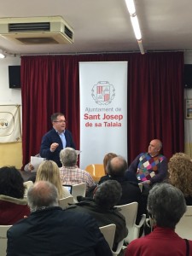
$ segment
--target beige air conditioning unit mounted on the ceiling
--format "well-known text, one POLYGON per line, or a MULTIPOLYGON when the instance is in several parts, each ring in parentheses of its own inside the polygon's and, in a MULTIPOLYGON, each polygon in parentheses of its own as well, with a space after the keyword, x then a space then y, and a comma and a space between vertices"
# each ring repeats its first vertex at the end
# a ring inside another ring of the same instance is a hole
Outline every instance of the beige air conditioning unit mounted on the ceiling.
POLYGON ((0 18, 0 36, 16 44, 73 44, 73 33, 61 16, 0 18))

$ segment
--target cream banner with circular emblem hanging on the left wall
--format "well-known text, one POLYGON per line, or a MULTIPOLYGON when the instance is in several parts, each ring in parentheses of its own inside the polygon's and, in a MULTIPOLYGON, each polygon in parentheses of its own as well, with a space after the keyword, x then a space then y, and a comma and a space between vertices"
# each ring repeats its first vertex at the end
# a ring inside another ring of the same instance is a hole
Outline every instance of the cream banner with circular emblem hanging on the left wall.
POLYGON ((0 143, 20 141, 20 106, 0 106, 0 143))

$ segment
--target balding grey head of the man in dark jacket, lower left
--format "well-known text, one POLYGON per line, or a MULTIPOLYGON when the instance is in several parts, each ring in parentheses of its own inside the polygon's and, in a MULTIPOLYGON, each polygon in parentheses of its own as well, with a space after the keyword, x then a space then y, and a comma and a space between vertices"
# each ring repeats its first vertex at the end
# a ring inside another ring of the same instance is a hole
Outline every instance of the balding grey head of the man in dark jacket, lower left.
POLYGON ((55 185, 49 183, 48 181, 39 181, 28 190, 27 201, 31 212, 48 207, 57 207, 57 189, 55 185))

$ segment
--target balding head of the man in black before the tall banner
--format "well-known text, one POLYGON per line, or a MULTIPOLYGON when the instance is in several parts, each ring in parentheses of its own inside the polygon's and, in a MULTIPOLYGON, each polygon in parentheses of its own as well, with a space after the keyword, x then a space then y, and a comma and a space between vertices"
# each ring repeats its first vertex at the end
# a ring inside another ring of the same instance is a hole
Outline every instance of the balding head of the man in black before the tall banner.
POLYGON ((108 160, 107 172, 111 177, 124 177, 127 169, 127 161, 122 156, 113 157, 108 160))

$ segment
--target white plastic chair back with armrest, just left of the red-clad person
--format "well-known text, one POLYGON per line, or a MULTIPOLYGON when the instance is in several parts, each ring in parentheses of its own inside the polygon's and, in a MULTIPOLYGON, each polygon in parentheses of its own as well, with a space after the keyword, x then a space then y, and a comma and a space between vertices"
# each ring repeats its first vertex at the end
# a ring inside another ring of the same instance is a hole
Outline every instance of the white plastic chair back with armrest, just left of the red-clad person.
POLYGON ((130 243, 132 240, 139 237, 139 230, 145 223, 146 215, 143 214, 140 223, 137 225, 136 218, 138 203, 136 201, 117 207, 121 209, 120 213, 125 217, 126 227, 129 230, 128 235, 125 237, 125 241, 130 243))

